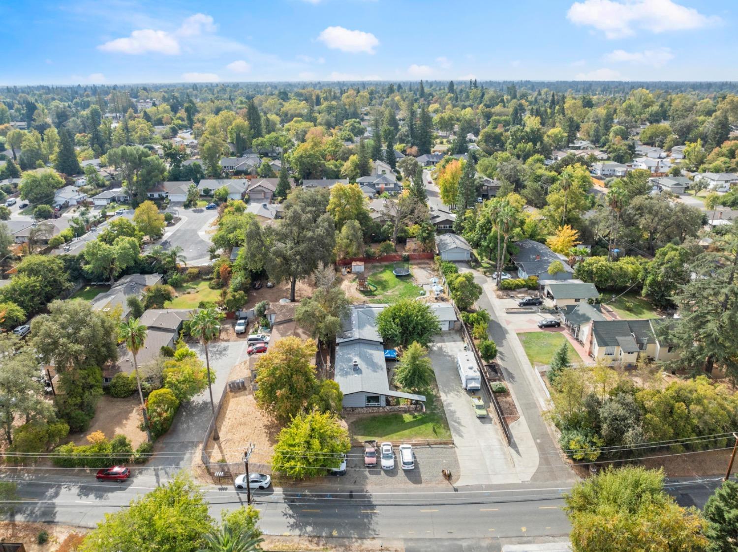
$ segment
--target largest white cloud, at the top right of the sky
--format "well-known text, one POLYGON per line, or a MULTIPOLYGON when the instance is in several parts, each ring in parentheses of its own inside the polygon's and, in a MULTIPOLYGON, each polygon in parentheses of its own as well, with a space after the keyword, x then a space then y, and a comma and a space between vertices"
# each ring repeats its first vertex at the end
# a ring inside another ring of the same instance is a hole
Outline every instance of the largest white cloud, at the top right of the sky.
POLYGON ((720 22, 715 15, 703 15, 672 0, 584 0, 571 4, 569 21, 589 25, 607 38, 623 38, 635 29, 650 32, 700 29, 720 22))

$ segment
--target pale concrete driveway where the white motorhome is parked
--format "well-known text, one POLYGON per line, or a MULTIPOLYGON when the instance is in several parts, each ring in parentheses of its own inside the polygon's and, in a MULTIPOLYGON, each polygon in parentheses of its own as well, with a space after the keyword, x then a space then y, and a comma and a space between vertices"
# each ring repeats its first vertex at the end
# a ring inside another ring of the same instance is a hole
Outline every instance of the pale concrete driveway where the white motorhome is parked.
MULTIPOLYGON (((457 447, 456 455, 461 470, 457 485, 516 483, 520 478, 515 473, 500 428, 492 416, 477 418, 472 408, 471 394, 461 387, 456 355, 462 351, 460 333, 441 332, 436 336, 429 353, 446 419, 457 447)), ((489 397, 482 397, 489 407, 489 397)))

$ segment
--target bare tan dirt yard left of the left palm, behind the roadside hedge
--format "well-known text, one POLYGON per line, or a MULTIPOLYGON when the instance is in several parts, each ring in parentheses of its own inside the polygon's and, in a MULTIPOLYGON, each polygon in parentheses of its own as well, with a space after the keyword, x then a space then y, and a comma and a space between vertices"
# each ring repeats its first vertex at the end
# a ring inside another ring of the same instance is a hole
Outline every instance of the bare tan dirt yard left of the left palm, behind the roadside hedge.
POLYGON ((85 433, 75 433, 70 436, 70 439, 76 444, 89 444, 86 438, 93 431, 102 431, 108 439, 113 439, 117 433, 122 433, 131 439, 131 446, 135 449, 146 440, 146 433, 138 427, 141 422, 139 408, 137 393, 125 399, 103 395, 97 401, 89 430, 85 433))

